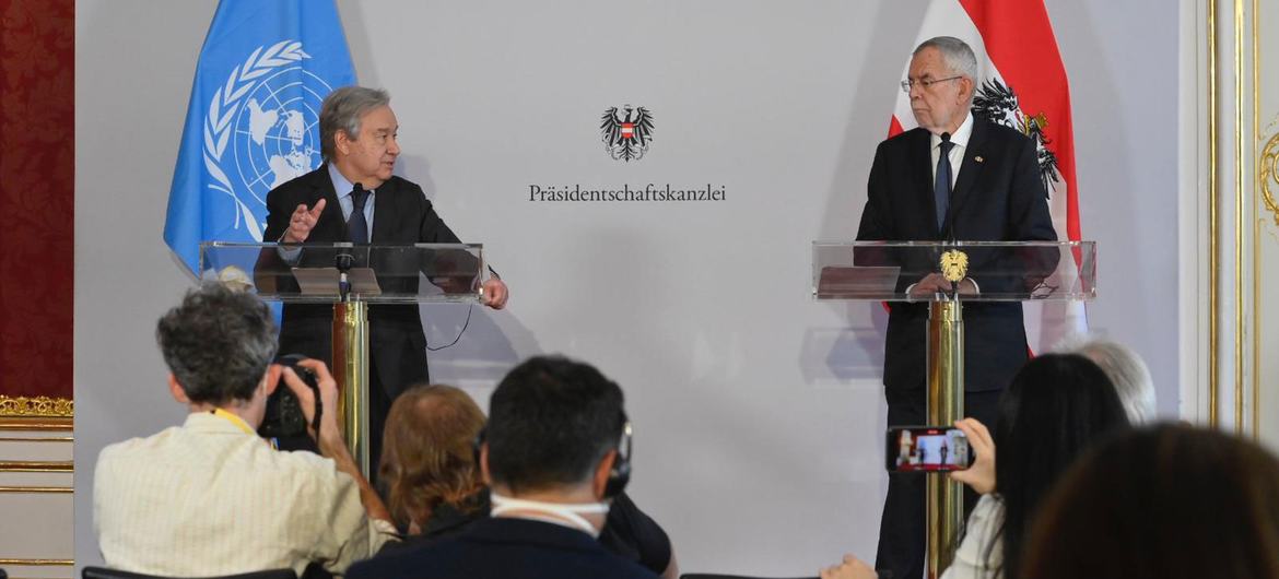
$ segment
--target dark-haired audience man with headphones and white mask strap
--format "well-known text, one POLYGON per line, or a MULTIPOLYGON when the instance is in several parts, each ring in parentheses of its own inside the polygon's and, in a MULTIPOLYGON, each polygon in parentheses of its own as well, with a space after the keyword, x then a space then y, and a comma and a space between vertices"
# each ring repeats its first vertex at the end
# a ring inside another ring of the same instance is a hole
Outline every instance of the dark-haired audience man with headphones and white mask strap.
POLYGON ((354 565, 352 579, 656 578, 596 538, 631 475, 622 389, 593 367, 536 357, 489 400, 480 467, 490 518, 354 565))

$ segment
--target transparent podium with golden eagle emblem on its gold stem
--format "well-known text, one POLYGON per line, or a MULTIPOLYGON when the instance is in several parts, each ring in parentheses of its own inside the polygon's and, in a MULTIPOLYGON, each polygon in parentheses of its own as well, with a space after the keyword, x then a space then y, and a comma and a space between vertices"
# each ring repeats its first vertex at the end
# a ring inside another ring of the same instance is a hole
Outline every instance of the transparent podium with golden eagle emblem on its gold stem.
MULTIPOLYGON (((812 263, 815 299, 927 303, 920 362, 926 364, 929 424, 964 415, 964 303, 1096 297, 1095 242, 815 242, 812 263)), ((943 473, 923 475, 926 576, 936 578, 962 537, 963 488, 943 473)))

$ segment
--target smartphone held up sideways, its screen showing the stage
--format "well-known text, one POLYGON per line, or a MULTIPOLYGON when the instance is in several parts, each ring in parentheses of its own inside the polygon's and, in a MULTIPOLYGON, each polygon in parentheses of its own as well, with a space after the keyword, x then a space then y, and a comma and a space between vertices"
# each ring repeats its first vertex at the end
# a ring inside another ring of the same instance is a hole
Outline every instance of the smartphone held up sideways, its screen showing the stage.
POLYGON ((890 473, 963 470, 972 450, 963 431, 948 426, 895 426, 888 429, 884 465, 890 473))

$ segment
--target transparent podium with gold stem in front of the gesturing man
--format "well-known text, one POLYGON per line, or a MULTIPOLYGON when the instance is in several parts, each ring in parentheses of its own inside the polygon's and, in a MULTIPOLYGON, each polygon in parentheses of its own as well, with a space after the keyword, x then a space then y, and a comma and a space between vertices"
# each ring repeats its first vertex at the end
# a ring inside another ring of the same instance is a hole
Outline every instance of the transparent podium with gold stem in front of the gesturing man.
POLYGON ((478 302, 480 244, 200 244, 200 277, 269 302, 333 304, 333 376, 343 436, 367 477, 368 305, 478 302))

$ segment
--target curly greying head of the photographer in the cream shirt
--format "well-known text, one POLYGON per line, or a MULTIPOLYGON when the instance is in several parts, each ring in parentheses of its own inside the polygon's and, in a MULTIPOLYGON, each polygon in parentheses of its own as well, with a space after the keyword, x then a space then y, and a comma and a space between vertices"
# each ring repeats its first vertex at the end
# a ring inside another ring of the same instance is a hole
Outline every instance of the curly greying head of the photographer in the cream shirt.
POLYGON ((183 401, 221 406, 252 400, 265 386, 275 321, 257 297, 210 282, 160 318, 156 341, 183 401))

